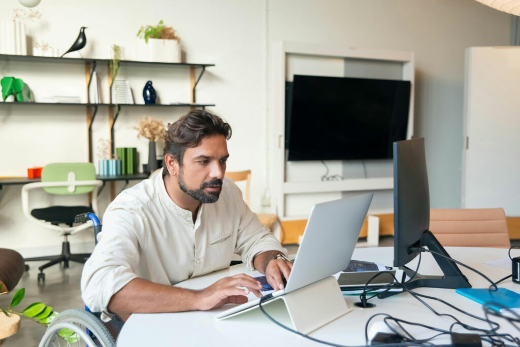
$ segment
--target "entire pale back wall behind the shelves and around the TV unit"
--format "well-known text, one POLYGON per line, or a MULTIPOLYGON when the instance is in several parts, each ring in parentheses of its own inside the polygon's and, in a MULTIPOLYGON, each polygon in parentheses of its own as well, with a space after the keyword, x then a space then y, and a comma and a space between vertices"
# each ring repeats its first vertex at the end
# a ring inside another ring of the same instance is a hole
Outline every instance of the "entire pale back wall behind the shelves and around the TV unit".
MULTIPOLYGON (((15 0, 3 2, 0 21, 9 20, 17 7, 21 6, 15 0)), ((228 170, 252 169, 251 205, 256 211, 262 209, 261 197, 269 184, 268 146, 274 145, 267 142, 270 122, 266 109, 266 57, 271 43, 413 50, 417 66, 415 134, 426 137, 432 206, 458 207, 464 48, 507 45, 510 38, 510 16, 473 0, 175 0, 146 4, 127 0, 124 5, 101 0, 43 0, 36 9, 42 18, 32 25, 35 41, 44 40, 61 51, 70 46, 84 25, 88 26, 84 56, 106 57, 107 47, 115 43, 124 46, 126 58, 131 58, 139 27, 163 19, 178 31, 186 61, 215 63, 202 77, 197 99, 215 102, 216 107, 209 110, 233 127, 228 170)), ((54 94, 59 88, 62 92, 83 91, 82 66, 29 65, 0 61, 0 75, 16 73, 33 88, 37 98, 54 94)), ((187 98, 187 71, 133 66, 122 69, 121 77, 129 79, 138 101, 148 79, 154 81, 163 101, 187 98)), ((116 146, 137 146, 141 161, 146 162, 146 140, 137 139, 136 131, 129 127, 145 114, 173 122, 185 112, 123 110, 115 127, 116 146)), ((108 130, 107 112, 102 110, 94 123, 94 150, 100 138, 108 138, 108 130)), ((81 107, 2 106, 0 175, 23 176, 27 167, 83 161, 87 158, 86 134, 85 110, 81 107)), ((4 186, 0 196, 0 245, 17 249, 56 245, 59 251, 58 236, 23 219, 19 195, 19 186, 4 186)), ((101 197, 100 206, 104 208, 108 204, 107 189, 101 197)), ((71 242, 91 239, 86 232, 83 238, 71 237, 71 242)))

